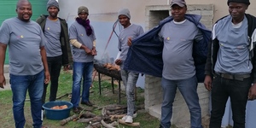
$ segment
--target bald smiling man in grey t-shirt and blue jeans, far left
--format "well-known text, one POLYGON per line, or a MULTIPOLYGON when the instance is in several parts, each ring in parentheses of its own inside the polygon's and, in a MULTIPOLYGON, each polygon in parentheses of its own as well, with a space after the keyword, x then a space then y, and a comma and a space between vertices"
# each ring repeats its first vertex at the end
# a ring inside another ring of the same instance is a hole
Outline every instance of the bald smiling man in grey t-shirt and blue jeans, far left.
POLYGON ((49 83, 49 71, 44 49, 45 38, 40 26, 30 20, 32 5, 20 0, 16 6, 17 17, 4 20, 0 28, 0 86, 5 84, 3 61, 9 46, 9 73, 13 92, 15 127, 23 128, 26 119, 24 104, 26 91, 31 102, 33 127, 41 128, 41 107, 44 83, 49 83))

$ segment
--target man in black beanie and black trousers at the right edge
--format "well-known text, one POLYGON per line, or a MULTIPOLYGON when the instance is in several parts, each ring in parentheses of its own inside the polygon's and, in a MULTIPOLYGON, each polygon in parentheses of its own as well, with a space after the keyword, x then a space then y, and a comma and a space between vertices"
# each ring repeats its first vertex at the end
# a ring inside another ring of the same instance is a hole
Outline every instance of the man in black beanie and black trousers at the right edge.
POLYGON ((245 128, 247 101, 256 99, 256 18, 249 0, 228 0, 230 15, 212 28, 204 81, 212 93, 210 128, 221 127, 230 97, 233 128, 245 128))

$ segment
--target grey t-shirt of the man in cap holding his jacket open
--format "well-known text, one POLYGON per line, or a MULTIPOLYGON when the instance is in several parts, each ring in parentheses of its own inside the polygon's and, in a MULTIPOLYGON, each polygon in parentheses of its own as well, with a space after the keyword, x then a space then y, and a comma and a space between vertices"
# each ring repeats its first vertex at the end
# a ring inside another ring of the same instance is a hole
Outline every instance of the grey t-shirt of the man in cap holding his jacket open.
POLYGON ((193 77, 193 42, 202 38, 201 31, 189 20, 178 23, 172 20, 162 26, 159 35, 164 41, 162 76, 170 80, 193 77))

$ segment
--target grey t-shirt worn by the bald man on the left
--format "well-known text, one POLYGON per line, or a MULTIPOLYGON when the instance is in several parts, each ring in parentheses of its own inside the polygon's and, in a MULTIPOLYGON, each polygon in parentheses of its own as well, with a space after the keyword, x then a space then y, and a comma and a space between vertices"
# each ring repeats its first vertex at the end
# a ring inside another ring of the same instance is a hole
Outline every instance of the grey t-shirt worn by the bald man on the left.
POLYGON ((40 47, 46 40, 38 23, 11 18, 3 21, 0 33, 0 42, 9 45, 11 74, 35 75, 44 69, 40 47))

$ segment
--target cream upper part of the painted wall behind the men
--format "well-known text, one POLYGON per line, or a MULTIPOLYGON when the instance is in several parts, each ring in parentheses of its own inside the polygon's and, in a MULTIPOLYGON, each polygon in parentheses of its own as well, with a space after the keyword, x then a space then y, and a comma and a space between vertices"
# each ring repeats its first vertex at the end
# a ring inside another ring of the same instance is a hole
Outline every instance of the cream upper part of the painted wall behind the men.
MULTIPOLYGON (((143 23, 145 17, 145 6, 148 5, 165 5, 169 4, 169 0, 59 0, 61 8, 60 15, 65 18, 67 15, 76 15, 79 6, 84 5, 88 7, 90 16, 100 16, 96 20, 113 21, 115 16, 102 16, 116 14, 121 8, 128 8, 131 10, 131 21, 136 23, 143 23), (101 18, 102 17, 102 18, 101 18)), ((256 0, 250 0, 251 5, 247 9, 247 13, 256 15, 256 0)), ((228 15, 227 0, 186 0, 187 4, 213 4, 214 5, 214 19, 218 20, 224 15, 228 15)))

